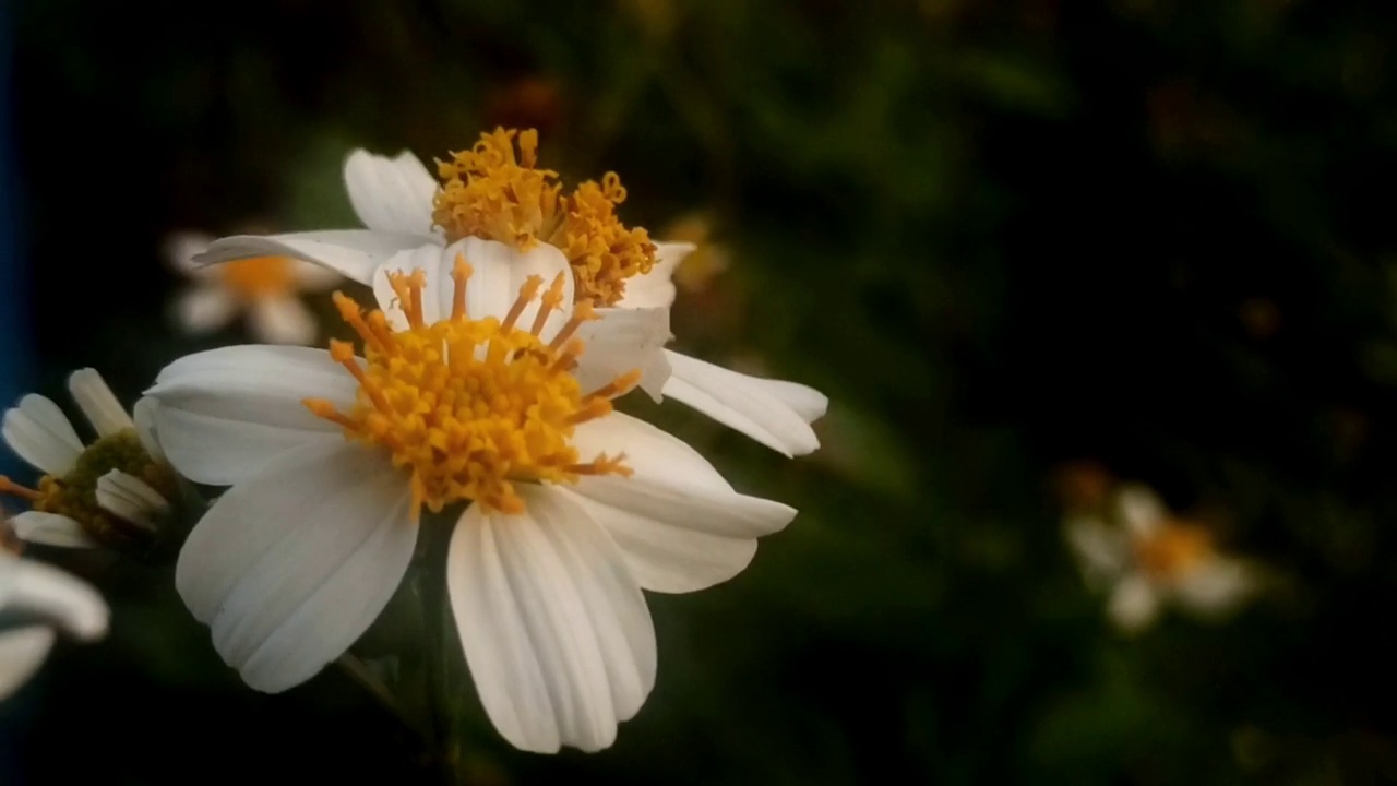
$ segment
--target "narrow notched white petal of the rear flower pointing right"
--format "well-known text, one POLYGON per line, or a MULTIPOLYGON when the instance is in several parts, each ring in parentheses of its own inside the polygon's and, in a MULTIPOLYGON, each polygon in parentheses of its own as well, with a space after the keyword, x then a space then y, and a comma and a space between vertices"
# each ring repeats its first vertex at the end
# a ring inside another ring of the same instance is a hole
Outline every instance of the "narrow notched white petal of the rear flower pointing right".
POLYGON ((827 400, 821 393, 803 385, 747 376, 669 350, 665 354, 672 369, 665 396, 787 456, 820 446, 810 421, 824 414, 827 400))

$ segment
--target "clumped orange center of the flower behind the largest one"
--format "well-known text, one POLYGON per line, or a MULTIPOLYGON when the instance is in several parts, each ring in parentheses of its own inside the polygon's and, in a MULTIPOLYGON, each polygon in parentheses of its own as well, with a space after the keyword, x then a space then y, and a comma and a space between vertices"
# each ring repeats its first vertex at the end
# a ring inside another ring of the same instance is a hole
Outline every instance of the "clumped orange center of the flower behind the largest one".
POLYGON ((468 151, 437 161, 441 189, 432 220, 448 241, 485 238, 528 250, 534 243, 562 249, 577 280, 577 299, 616 305, 626 280, 650 273, 655 245, 644 228, 627 228, 616 215, 626 187, 615 172, 564 194, 557 172, 538 168, 538 131, 496 129, 468 151), (518 136, 518 151, 514 137, 518 136))

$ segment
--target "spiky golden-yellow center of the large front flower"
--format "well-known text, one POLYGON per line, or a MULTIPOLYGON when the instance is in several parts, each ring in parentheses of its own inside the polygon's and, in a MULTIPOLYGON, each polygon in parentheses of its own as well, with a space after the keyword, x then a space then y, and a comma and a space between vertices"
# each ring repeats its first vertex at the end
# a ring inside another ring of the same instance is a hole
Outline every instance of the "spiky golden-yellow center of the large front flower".
POLYGON ((581 462, 571 445, 578 424, 612 411, 610 400, 640 380, 630 372, 584 393, 571 369, 583 352, 573 334, 594 319, 581 302, 550 341, 539 337, 563 301, 563 274, 542 295, 531 329, 515 327, 543 280, 531 276, 503 320, 469 319, 465 287, 471 267, 458 256, 451 316, 427 324, 422 316, 426 276, 391 274, 408 319, 390 330, 381 310, 363 315, 335 294, 341 316, 363 338, 366 362, 348 341, 331 341, 330 355, 359 380, 349 411, 323 399, 306 399, 316 415, 339 424, 352 439, 387 448, 393 464, 411 470, 414 516, 472 501, 506 513, 524 510, 515 483, 576 483, 578 476, 620 474, 624 455, 581 462))

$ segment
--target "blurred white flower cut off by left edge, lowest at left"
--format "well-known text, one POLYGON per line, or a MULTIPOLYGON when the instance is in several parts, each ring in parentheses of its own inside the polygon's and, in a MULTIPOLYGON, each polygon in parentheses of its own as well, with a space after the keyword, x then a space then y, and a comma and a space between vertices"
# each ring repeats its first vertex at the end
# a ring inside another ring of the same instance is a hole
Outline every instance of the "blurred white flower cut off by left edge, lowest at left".
POLYGON ((87 582, 0 548, 0 699, 39 670, 57 632, 106 635, 108 607, 87 582))

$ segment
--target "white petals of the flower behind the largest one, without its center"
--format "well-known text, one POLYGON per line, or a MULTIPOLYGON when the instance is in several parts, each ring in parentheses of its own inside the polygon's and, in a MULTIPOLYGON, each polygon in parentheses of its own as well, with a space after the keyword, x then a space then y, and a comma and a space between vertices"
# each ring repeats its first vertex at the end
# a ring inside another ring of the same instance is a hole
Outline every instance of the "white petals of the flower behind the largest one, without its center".
MULTIPOLYGON (((513 147, 509 155, 514 157, 513 147)), ((235 235, 211 243, 196 262, 214 264, 291 256, 369 284, 393 255, 422 245, 440 248, 453 239, 433 218, 434 199, 441 189, 412 152, 388 158, 355 150, 345 161, 344 180, 355 213, 367 229, 235 235)), ((624 295, 615 308, 599 310, 669 308, 675 299, 671 278, 694 245, 659 242, 655 249, 651 270, 627 278, 624 295)), ((823 417, 828 406, 823 393, 793 382, 732 372, 665 350, 662 343, 648 351, 654 358, 641 364, 647 371, 641 387, 655 400, 672 396, 787 456, 810 453, 820 446, 810 424, 823 417)))

